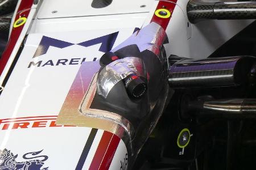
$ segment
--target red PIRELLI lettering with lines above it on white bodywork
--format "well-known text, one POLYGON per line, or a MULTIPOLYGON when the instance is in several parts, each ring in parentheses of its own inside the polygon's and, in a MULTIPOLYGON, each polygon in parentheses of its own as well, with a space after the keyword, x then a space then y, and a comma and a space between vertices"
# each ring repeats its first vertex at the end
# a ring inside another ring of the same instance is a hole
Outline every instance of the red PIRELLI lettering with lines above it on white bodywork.
POLYGON ((56 128, 68 125, 56 125, 57 116, 36 116, 5 118, 0 120, 0 130, 56 128))

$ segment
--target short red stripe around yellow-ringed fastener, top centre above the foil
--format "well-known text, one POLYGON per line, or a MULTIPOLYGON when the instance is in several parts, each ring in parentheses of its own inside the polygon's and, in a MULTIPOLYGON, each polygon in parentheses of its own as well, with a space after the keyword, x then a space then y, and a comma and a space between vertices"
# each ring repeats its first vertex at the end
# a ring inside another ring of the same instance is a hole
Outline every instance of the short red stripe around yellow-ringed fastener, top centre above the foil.
MULTIPOLYGON (((176 6, 177 0, 169 0, 169 2, 167 2, 167 1, 159 1, 158 6, 156 7, 156 10, 164 8, 164 9, 170 11, 171 15, 172 15, 172 12, 174 12, 174 8, 176 6)), ((171 16, 169 18, 160 18, 154 14, 151 19, 151 23, 152 22, 157 23, 157 24, 161 25, 164 30, 166 30, 167 25, 170 22, 170 19, 171 19, 171 16)))

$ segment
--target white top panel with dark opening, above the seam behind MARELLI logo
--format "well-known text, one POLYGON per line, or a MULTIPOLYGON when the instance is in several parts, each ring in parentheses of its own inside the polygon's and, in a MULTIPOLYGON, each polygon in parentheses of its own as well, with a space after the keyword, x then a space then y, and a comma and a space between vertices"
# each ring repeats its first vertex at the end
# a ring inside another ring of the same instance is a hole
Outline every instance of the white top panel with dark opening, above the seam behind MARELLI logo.
POLYGON ((149 12, 152 7, 151 0, 118 0, 104 8, 93 8, 92 2, 92 0, 73 0, 72 2, 44 0, 42 8, 39 10, 38 19, 141 13, 149 12))

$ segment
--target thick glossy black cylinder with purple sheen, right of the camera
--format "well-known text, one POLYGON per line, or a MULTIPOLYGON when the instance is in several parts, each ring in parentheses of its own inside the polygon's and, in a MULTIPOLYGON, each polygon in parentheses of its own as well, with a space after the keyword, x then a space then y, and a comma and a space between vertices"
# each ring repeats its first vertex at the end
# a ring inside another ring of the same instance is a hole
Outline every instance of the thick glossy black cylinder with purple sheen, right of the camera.
MULTIPOLYGON (((171 58, 170 58, 171 59, 171 58)), ((220 87, 245 83, 254 57, 181 59, 170 66, 171 87, 220 87)))

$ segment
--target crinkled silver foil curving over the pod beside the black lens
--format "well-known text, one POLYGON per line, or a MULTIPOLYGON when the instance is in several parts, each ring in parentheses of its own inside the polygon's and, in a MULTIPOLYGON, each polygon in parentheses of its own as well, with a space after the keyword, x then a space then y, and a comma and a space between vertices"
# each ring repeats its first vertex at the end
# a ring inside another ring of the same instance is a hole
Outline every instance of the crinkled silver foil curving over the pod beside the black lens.
POLYGON ((117 59, 105 66, 104 69, 98 73, 98 94, 106 98, 115 84, 130 74, 136 74, 146 78, 144 63, 141 58, 126 57, 117 59))

